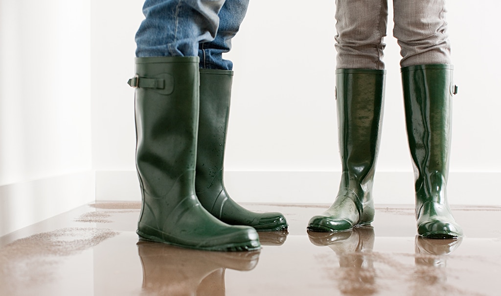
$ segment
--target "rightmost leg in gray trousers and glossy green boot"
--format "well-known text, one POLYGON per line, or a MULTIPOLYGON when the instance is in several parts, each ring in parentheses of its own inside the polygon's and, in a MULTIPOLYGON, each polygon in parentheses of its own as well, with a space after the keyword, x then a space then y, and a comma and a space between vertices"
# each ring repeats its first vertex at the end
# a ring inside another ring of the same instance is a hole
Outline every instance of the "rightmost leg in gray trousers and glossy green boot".
POLYGON ((418 234, 462 236, 446 194, 452 82, 444 0, 394 0, 394 35, 401 46, 402 86, 415 176, 418 234))

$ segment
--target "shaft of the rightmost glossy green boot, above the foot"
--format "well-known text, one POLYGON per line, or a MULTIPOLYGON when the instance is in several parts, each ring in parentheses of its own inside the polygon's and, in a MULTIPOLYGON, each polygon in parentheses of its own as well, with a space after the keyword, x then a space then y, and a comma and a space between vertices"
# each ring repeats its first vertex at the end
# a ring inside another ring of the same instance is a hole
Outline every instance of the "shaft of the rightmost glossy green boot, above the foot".
POLYGON ((418 196, 444 198, 449 171, 452 66, 402 68, 405 121, 418 196), (442 196, 442 197, 440 197, 442 196))

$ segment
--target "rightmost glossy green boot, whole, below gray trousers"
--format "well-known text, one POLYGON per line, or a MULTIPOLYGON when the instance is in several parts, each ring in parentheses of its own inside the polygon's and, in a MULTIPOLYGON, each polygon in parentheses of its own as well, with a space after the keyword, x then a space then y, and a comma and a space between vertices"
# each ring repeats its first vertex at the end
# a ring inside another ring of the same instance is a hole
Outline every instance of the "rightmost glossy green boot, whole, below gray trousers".
POLYGON ((402 68, 405 121, 414 166, 416 220, 419 235, 460 237, 447 203, 451 132, 452 66, 402 68))

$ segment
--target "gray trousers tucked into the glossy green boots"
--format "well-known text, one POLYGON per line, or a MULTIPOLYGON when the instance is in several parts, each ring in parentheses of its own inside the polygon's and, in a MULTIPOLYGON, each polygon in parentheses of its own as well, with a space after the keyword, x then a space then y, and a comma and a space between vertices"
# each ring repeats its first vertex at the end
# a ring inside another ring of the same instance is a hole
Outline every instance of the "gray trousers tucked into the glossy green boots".
MULTIPOLYGON (((450 64, 445 0, 393 0, 401 67, 450 64)), ((384 70, 388 0, 336 0, 337 69, 384 70)))

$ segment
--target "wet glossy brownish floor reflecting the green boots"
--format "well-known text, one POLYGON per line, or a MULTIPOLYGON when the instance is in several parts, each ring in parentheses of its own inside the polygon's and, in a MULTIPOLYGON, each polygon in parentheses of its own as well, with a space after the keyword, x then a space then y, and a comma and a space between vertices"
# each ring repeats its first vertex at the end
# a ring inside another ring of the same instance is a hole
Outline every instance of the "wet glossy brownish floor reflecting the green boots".
POLYGON ((453 207, 465 237, 430 240, 410 206, 338 234, 306 231, 327 205, 245 206, 283 212, 289 232, 188 250, 138 241, 139 203, 80 207, 0 238, 0 295, 499 295, 500 207, 453 207))

